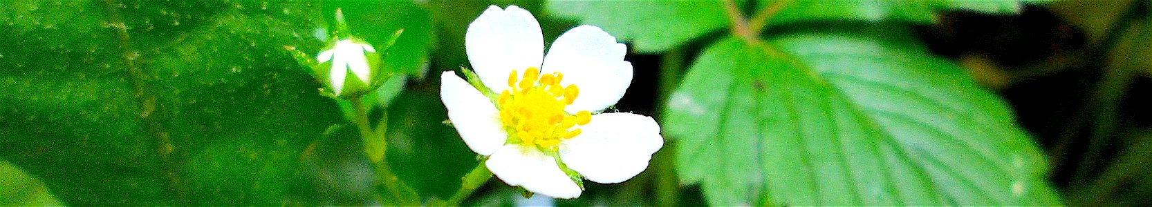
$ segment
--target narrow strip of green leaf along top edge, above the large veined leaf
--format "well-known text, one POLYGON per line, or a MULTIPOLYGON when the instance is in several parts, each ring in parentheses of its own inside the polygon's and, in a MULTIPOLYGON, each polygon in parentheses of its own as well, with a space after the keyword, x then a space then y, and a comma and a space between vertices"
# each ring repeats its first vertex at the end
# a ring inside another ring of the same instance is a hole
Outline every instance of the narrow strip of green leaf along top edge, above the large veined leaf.
POLYGON ((937 10, 968 10, 986 14, 1016 14, 1023 9, 1014 0, 843 0, 835 3, 817 0, 758 1, 759 8, 787 3, 768 24, 780 25, 811 21, 903 21, 920 24, 937 22, 937 10))

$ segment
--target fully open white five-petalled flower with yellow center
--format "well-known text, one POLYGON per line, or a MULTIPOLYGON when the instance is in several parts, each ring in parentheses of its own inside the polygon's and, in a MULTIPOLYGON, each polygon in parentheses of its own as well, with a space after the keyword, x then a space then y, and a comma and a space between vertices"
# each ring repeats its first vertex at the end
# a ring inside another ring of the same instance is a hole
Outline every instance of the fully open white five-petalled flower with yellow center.
POLYGON ((491 6, 464 36, 468 60, 497 100, 452 71, 440 97, 468 147, 490 155, 488 170, 509 185, 576 198, 581 187, 560 163, 597 183, 620 183, 647 168, 664 146, 652 117, 600 112, 632 79, 623 44, 600 28, 561 34, 544 55, 540 25, 528 10, 491 6))

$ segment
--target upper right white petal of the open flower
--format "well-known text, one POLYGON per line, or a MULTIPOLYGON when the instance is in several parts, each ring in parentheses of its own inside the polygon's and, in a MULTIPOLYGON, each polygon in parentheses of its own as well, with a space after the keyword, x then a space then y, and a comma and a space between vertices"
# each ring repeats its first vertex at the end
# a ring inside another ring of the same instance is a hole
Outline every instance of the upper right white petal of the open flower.
POLYGON ((544 57, 540 74, 560 71, 560 85, 575 84, 579 95, 564 108, 568 113, 597 112, 615 105, 632 82, 632 63, 624 61, 628 48, 600 28, 576 26, 556 38, 544 57))

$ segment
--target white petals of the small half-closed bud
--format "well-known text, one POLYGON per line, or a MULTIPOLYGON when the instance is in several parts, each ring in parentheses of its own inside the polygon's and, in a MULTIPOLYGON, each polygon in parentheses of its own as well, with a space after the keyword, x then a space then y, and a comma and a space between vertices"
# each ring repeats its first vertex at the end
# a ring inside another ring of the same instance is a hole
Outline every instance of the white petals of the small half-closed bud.
POLYGON ((344 87, 344 78, 348 76, 348 70, 353 70, 353 75, 363 80, 365 85, 370 84, 372 78, 367 59, 364 57, 365 51, 376 53, 376 49, 371 45, 343 39, 336 41, 336 45, 332 49, 320 52, 316 56, 316 60, 320 63, 332 61, 332 70, 329 70, 328 79, 332 80, 334 94, 340 95, 340 91, 344 87))

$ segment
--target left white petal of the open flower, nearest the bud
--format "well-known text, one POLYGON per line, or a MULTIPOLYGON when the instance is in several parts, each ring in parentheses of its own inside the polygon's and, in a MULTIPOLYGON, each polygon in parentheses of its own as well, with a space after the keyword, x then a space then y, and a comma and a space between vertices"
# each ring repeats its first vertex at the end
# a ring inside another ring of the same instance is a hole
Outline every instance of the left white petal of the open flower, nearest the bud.
POLYGON ((440 75, 440 100, 460 138, 477 154, 490 155, 508 140, 492 101, 452 71, 440 75))

